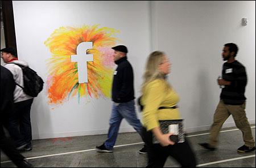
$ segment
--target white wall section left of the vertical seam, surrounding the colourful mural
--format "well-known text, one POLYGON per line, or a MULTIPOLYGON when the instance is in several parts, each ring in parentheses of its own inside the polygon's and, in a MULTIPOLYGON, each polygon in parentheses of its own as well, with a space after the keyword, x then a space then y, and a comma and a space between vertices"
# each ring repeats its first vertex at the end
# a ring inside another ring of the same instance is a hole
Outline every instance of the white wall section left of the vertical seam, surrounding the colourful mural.
MULTIPOLYGON (((46 60, 51 57, 44 41, 60 27, 100 24, 120 31, 135 72, 135 88, 141 84, 144 55, 150 52, 147 1, 14 1, 14 21, 19 59, 27 61, 46 81, 46 60)), ((110 90, 111 91, 111 90, 110 90)), ((34 139, 107 133, 112 101, 77 97, 62 105, 48 105, 46 84, 31 109, 34 139)), ((139 114, 140 115, 140 114, 139 114)), ((122 122, 120 131, 134 131, 122 122)))

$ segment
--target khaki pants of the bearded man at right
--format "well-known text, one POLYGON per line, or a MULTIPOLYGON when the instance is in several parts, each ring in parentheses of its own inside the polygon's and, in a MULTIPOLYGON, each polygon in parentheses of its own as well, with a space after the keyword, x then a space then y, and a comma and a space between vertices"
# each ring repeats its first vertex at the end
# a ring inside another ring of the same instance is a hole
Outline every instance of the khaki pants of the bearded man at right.
POLYGON ((239 130, 242 131, 243 141, 247 147, 254 147, 255 141, 251 133, 251 127, 245 114, 245 103, 242 105, 225 105, 221 100, 218 103, 214 113, 213 124, 210 128, 209 144, 216 147, 218 144, 218 133, 221 130, 222 124, 232 115, 234 122, 239 130))

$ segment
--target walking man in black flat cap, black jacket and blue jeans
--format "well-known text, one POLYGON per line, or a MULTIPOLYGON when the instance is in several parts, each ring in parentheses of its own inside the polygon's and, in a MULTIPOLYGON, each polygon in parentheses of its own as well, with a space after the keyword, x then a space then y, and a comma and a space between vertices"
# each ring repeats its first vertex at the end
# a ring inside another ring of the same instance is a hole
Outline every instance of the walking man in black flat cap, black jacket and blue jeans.
MULTIPOLYGON (((133 68, 127 61, 128 50, 124 45, 118 45, 112 48, 114 50, 114 61, 118 65, 114 71, 112 85, 112 114, 110 117, 110 127, 108 140, 104 144, 96 147, 98 152, 113 152, 115 141, 117 140, 119 126, 122 119, 125 118, 131 126, 142 136, 142 124, 137 118, 134 102, 134 76, 133 68)), ((146 154, 147 148, 139 150, 139 153, 146 154)))

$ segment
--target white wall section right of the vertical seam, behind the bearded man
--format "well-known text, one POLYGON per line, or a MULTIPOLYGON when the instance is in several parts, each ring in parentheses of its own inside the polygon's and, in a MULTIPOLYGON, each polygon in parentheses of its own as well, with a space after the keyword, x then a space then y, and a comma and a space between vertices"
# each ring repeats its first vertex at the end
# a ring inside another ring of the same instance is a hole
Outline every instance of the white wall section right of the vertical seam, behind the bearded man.
MULTIPOLYGON (((212 123, 221 92, 222 48, 229 42, 238 45, 237 60, 247 70, 246 114, 255 123, 255 1, 154 1, 151 6, 152 46, 170 56, 170 81, 180 95, 187 131, 207 130, 212 123)), ((232 117, 224 124, 230 126, 235 126, 232 117)))

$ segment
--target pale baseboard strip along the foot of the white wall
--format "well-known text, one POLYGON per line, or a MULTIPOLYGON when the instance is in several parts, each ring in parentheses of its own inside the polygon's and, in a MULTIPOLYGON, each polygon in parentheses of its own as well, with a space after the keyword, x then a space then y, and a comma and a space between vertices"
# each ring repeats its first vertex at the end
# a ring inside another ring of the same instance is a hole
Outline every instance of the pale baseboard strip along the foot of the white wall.
MULTIPOLYGON (((255 119, 249 120, 250 124, 255 124, 255 119)), ((234 122, 224 123, 222 128, 236 127, 234 122)), ((184 130, 187 133, 208 131, 210 125, 199 126, 199 127, 185 127, 184 130)), ((134 128, 126 127, 120 128, 119 133, 123 132, 135 132, 134 128)), ((86 135, 103 135, 108 133, 108 130, 88 130, 88 131, 72 131, 72 132, 58 132, 58 133, 41 133, 32 135, 33 140, 36 139, 48 139, 57 137, 72 137, 72 136, 86 136, 86 135)))

